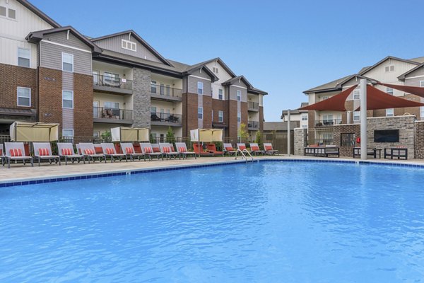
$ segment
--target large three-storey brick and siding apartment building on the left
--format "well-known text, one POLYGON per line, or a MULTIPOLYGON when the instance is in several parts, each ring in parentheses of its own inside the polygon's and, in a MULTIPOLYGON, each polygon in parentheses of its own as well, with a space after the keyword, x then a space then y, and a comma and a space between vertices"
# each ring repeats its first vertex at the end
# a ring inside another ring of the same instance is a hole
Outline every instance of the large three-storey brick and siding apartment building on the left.
POLYGON ((263 129, 263 98, 220 58, 165 59, 134 30, 98 38, 61 26, 25 0, 0 0, 0 134, 15 120, 58 122, 64 137, 149 127, 165 138, 222 128, 236 140, 263 129))

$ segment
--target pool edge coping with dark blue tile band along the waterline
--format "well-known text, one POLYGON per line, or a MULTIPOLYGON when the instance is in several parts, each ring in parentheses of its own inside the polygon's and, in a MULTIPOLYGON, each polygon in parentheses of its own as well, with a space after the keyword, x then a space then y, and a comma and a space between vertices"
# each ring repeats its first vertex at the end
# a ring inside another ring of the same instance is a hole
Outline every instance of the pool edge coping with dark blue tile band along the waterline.
POLYGON ((355 160, 355 159, 333 159, 333 158, 305 158, 300 157, 291 157, 291 156, 275 156, 271 158, 255 158, 251 160, 232 160, 232 161, 213 161, 206 163, 195 163, 195 164, 177 164, 172 166, 153 166, 148 168, 134 168, 134 169, 118 169, 112 171, 95 171, 89 173, 71 173, 71 174, 60 174, 60 175, 47 175, 42 177, 31 177, 31 178, 10 178, 0 180, 0 187, 13 187, 20 185, 34 185, 42 183, 55 183, 55 182, 64 182, 69 180, 85 180, 93 178, 105 178, 118 175, 133 175, 133 174, 143 174, 143 173, 152 173, 159 171, 172 171, 172 170, 182 170, 190 168, 201 168, 201 167, 211 167, 211 166, 225 166, 232 164, 241 164, 241 163, 259 163, 259 162, 269 162, 269 161, 283 161, 283 162, 312 162, 312 163, 356 163, 362 165, 384 165, 384 166, 394 166, 394 167, 411 167, 411 168, 424 168, 423 163, 414 163, 408 162, 403 163, 399 161, 367 161, 367 160, 355 160))

